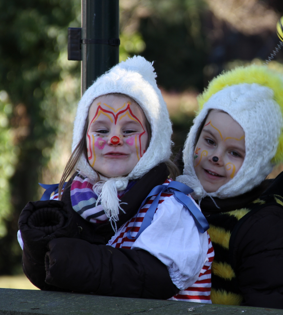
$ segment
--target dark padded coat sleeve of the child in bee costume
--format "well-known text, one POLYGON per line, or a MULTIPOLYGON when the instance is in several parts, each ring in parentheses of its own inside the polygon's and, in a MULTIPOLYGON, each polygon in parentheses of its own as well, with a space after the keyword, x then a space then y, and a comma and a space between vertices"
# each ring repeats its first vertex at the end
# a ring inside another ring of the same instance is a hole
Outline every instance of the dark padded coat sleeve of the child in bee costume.
POLYGON ((244 306, 283 308, 283 209, 273 205, 251 215, 235 242, 237 280, 244 306))

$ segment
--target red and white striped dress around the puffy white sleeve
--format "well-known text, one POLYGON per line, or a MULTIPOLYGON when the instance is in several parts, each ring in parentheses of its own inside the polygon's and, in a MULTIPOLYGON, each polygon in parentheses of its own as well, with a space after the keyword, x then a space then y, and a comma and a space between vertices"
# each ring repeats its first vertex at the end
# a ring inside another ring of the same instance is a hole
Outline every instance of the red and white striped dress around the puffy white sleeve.
MULTIPOLYGON (((164 184, 165 185, 169 184, 170 181, 171 180, 167 180, 165 181, 164 184)), ((158 201, 158 207, 160 206, 161 203, 164 202, 164 200, 167 197, 170 197, 170 196, 172 196, 172 194, 162 193, 158 201)), ((109 241, 108 245, 115 248, 130 249, 132 247, 133 243, 135 242, 135 239, 127 238, 127 232, 132 228, 131 235, 132 237, 136 236, 142 224, 143 218, 147 212, 147 209, 152 204, 154 198, 155 196, 152 196, 137 215, 135 215, 132 219, 126 222, 123 226, 121 226, 118 232, 109 241)), ((212 247, 212 243, 210 241, 208 233, 207 232, 205 233, 208 238, 207 259, 199 273, 197 281, 194 284, 192 284, 189 288, 180 291, 179 294, 173 296, 169 300, 211 303, 211 300, 210 300, 211 264, 214 258, 214 249, 212 247)))

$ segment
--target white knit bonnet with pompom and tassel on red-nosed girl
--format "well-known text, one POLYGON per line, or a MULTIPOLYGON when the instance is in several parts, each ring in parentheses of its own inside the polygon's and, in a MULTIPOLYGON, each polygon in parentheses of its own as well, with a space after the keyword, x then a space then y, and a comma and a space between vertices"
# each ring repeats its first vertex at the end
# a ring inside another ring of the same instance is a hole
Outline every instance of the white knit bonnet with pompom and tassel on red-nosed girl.
MULTIPOLYGON (((172 124, 166 103, 156 84, 153 63, 141 56, 134 56, 122 61, 108 72, 98 77, 82 96, 74 121, 72 151, 82 139, 89 107, 98 96, 121 93, 130 96, 141 106, 151 126, 149 146, 136 166, 127 176, 106 178, 100 175, 97 200, 101 200, 103 209, 109 218, 118 219, 119 199, 117 190, 123 191, 130 179, 141 178, 150 169, 165 162, 171 155, 172 124)), ((76 169, 92 180, 97 180, 97 173, 92 169, 84 154, 81 155, 76 169)), ((116 220, 114 220, 116 221, 116 220)))

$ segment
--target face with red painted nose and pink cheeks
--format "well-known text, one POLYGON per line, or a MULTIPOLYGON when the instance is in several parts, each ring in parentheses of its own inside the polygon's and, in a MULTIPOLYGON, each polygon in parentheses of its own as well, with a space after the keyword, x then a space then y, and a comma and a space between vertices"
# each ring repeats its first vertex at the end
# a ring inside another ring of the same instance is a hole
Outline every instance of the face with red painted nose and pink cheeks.
POLYGON ((126 95, 108 94, 90 106, 86 132, 90 165, 106 177, 130 173, 146 151, 146 118, 126 95))

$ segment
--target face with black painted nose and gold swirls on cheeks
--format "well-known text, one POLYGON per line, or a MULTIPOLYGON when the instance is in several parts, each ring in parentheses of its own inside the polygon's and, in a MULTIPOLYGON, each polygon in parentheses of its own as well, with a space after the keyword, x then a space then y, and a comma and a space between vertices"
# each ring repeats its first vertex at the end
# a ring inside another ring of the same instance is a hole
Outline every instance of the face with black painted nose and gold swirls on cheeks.
POLYGON ((241 126, 227 113, 212 110, 193 155, 194 169, 204 190, 216 192, 234 178, 245 152, 245 134, 241 126))

